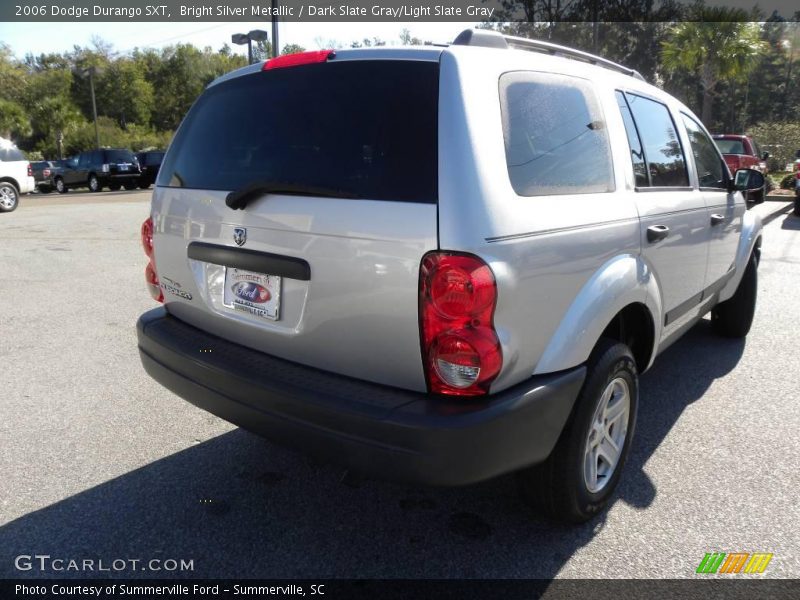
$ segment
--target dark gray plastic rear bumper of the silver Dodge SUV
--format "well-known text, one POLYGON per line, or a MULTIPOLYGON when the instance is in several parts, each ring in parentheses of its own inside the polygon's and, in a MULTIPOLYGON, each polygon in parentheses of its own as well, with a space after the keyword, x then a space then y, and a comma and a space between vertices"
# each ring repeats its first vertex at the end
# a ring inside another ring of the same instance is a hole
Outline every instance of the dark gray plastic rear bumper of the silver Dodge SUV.
POLYGON ((472 405, 278 359, 170 316, 137 323, 145 370, 227 421, 381 479, 461 485, 543 461, 585 368, 537 376, 472 405))

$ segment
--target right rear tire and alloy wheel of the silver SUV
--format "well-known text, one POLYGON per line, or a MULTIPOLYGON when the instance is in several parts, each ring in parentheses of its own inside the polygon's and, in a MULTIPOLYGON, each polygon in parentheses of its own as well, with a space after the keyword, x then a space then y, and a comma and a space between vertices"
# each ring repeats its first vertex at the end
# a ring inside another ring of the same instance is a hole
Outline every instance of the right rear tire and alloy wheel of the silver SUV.
POLYGON ((586 366, 586 380, 553 452, 541 465, 518 474, 520 491, 529 505, 569 523, 595 517, 613 496, 628 457, 639 405, 639 377, 628 346, 602 338, 586 366), (611 423, 609 407, 612 414, 619 410, 611 423), (605 457, 613 454, 616 462, 611 466, 605 457))

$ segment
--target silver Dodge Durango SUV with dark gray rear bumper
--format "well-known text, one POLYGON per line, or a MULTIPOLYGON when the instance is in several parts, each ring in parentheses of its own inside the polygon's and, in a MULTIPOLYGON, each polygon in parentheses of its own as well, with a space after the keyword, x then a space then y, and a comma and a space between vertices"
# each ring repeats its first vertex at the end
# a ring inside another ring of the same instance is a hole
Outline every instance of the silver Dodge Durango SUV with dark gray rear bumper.
POLYGON ((639 374, 708 312, 750 329, 740 191, 762 187, 680 102, 568 48, 466 31, 282 56, 212 83, 167 152, 141 359, 281 444, 424 484, 519 471, 583 521, 639 374))

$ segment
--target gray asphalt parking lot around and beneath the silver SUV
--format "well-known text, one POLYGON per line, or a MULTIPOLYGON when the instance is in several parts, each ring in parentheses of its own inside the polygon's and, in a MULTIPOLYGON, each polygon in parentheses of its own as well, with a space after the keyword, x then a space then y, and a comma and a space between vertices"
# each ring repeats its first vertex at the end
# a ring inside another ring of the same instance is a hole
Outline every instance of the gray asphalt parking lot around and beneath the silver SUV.
POLYGON ((553 525, 514 477, 422 489, 310 462, 146 376, 134 324, 149 192, 27 196, 0 215, 0 577, 20 554, 193 560, 124 576, 693 577, 704 553, 771 552, 800 577, 800 217, 767 222, 744 341, 708 321, 641 383, 619 499, 553 525))

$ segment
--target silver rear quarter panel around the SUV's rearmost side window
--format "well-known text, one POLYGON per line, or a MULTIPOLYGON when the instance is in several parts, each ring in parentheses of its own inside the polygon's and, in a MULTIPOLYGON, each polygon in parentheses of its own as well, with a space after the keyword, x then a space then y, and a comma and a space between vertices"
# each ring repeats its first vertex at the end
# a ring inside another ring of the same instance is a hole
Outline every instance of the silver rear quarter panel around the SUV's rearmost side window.
MULTIPOLYGON (((535 53, 497 53, 444 52, 440 88, 440 246, 481 256, 497 279, 504 367, 492 391, 585 361, 629 303, 659 310, 658 290, 638 258, 632 171, 615 170, 616 191, 604 194, 520 197, 509 181, 500 75, 547 70, 586 78, 591 69, 535 53)), ((613 89, 596 87, 614 164, 629 165, 613 89)))

